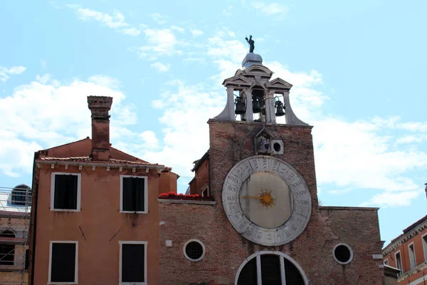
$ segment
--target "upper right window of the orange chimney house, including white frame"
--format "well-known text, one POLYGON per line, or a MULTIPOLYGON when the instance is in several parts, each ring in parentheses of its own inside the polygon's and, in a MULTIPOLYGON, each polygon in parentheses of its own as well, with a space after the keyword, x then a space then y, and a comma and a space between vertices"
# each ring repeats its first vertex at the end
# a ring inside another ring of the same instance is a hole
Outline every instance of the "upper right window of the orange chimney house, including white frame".
POLYGON ((147 213, 147 177, 120 176, 120 212, 147 213))

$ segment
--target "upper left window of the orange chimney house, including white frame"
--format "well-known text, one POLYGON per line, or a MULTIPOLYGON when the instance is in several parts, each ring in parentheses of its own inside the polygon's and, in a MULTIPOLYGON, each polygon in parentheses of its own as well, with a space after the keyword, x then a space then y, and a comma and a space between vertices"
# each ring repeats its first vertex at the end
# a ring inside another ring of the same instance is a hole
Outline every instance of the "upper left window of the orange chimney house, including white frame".
POLYGON ((52 173, 51 210, 80 211, 80 174, 52 173))

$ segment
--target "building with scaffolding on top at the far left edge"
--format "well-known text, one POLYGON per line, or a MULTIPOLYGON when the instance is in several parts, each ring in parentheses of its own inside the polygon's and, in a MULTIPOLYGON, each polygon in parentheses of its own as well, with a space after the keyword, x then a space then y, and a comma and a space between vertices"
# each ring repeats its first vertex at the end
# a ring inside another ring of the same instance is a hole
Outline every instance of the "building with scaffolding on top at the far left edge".
POLYGON ((27 284, 30 212, 30 187, 0 189, 0 284, 27 284))

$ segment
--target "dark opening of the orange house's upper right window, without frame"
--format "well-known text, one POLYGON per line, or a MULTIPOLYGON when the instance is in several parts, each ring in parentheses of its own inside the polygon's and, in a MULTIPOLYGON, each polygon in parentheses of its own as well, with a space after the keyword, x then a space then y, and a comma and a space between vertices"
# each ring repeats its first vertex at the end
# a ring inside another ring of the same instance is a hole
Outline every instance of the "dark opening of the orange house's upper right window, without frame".
POLYGON ((123 177, 122 210, 144 212, 144 178, 123 177))

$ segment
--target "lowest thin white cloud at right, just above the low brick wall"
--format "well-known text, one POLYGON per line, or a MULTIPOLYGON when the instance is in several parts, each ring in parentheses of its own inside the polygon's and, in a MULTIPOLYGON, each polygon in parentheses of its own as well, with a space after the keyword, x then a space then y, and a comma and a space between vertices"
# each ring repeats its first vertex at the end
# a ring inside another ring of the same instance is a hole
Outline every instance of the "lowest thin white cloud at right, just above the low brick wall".
POLYGON ((418 198, 423 191, 406 191, 406 192, 382 192, 374 195, 369 202, 362 203, 360 206, 376 206, 376 207, 404 207, 409 206, 411 202, 418 198))

